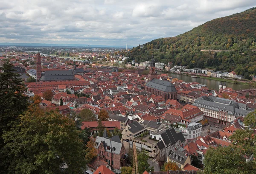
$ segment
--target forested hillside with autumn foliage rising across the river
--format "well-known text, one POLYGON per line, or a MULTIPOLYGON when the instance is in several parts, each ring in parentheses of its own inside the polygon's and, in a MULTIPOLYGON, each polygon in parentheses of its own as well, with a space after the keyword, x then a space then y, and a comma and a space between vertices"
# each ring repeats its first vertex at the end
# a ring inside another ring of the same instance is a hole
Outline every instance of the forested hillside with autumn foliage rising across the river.
POLYGON ((172 62, 189 68, 235 70, 247 76, 256 73, 255 51, 256 8, 250 8, 211 20, 175 37, 139 45, 128 56, 136 62, 144 62, 153 54, 157 62, 172 62), (208 49, 211 51, 201 51, 208 49))

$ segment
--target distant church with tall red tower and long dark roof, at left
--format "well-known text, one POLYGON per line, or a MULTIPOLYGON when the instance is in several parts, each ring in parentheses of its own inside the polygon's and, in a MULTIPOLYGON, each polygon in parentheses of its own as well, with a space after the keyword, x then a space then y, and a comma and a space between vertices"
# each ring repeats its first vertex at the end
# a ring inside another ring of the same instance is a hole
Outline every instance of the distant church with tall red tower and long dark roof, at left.
POLYGON ((52 82, 52 81, 74 81, 74 73, 72 70, 49 70, 42 73, 41 56, 37 53, 36 63, 36 81, 37 82, 52 82))

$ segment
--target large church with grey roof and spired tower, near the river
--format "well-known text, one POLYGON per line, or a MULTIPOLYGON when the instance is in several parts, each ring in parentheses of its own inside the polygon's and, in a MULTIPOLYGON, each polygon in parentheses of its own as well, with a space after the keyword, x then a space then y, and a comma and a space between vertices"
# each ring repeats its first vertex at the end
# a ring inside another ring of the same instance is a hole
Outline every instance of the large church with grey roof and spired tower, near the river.
POLYGON ((145 90, 151 94, 161 96, 165 100, 177 100, 177 90, 175 86, 169 81, 157 79, 155 61, 152 57, 149 67, 149 82, 145 85, 145 90))

